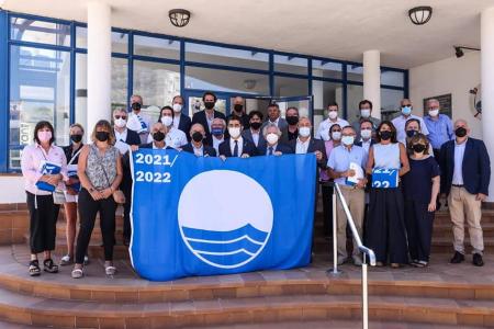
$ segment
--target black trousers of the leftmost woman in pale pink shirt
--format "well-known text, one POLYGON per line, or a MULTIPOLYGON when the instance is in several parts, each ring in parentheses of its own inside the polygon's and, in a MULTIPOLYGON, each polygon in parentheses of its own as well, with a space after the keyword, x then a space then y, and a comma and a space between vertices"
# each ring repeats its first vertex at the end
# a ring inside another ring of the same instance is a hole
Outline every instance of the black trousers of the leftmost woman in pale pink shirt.
POLYGON ((57 219, 60 206, 53 203, 53 195, 34 195, 26 193, 30 211, 31 253, 55 250, 57 219))

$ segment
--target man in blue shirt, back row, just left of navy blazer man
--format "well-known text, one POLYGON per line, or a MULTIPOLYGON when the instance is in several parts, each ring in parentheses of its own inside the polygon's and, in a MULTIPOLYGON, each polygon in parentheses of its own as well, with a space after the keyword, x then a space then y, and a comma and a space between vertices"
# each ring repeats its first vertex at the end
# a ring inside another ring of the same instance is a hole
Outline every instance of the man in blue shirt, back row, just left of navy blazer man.
POLYGON ((433 147, 434 157, 437 159, 439 157, 442 144, 454 139, 454 132, 451 118, 449 118, 446 114, 439 113, 440 105, 438 100, 428 100, 427 107, 429 115, 424 117, 424 122, 427 131, 429 131, 427 138, 433 147))

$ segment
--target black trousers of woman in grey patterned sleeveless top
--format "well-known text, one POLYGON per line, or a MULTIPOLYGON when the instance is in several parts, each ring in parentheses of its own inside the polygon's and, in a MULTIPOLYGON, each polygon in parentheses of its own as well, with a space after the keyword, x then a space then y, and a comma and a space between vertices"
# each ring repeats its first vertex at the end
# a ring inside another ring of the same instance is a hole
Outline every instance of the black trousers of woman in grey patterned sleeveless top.
POLYGON ((82 264, 87 254, 89 241, 97 214, 100 213, 100 228, 103 236, 104 260, 113 260, 113 247, 115 246, 115 211, 116 203, 113 196, 94 201, 88 190, 79 192, 79 235, 77 236, 76 263, 82 264))

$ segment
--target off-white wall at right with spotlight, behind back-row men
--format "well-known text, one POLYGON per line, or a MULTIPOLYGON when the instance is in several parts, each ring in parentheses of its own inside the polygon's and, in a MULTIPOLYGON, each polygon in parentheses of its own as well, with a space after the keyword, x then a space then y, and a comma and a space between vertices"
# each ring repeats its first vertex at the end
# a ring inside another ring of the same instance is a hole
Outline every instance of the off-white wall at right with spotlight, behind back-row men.
MULTIPOLYGON (((452 53, 452 48, 451 48, 452 53)), ((414 113, 422 115, 424 99, 451 93, 452 120, 468 121, 472 136, 482 138, 482 123, 473 117, 470 89, 481 82, 480 53, 465 53, 409 69, 409 95, 414 113)))

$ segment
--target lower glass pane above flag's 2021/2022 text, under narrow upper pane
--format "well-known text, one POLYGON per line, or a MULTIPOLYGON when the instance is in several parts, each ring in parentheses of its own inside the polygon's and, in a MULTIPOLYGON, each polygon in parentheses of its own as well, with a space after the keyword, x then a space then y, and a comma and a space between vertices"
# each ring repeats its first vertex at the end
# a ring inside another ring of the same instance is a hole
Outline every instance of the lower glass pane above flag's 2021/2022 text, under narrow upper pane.
POLYGON ((170 105, 180 94, 180 67, 178 65, 134 61, 134 93, 143 97, 143 112, 158 121, 159 110, 170 105))

